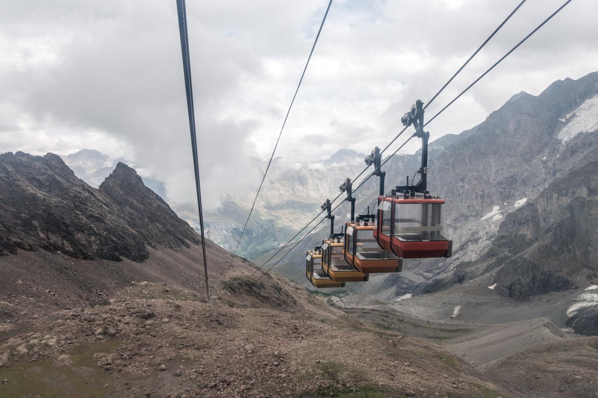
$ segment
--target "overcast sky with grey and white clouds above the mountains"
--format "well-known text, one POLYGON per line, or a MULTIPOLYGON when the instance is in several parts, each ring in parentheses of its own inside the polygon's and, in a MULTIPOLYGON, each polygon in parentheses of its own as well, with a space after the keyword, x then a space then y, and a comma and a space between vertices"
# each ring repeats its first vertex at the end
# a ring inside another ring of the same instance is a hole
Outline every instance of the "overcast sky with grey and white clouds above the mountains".
MULTIPOLYGON (((426 116, 564 1, 527 0, 426 116)), ((519 2, 334 0, 275 156, 292 165, 385 147, 411 104, 431 99, 519 2)), ((257 189, 252 159, 270 158, 327 6, 187 0, 207 208, 257 189)), ((175 0, 0 0, 0 10, 0 153, 96 149, 134 159, 171 202, 193 202, 175 0)), ((431 122, 431 140, 480 124, 520 91, 598 70, 597 15, 595 0, 573 0, 431 122)))

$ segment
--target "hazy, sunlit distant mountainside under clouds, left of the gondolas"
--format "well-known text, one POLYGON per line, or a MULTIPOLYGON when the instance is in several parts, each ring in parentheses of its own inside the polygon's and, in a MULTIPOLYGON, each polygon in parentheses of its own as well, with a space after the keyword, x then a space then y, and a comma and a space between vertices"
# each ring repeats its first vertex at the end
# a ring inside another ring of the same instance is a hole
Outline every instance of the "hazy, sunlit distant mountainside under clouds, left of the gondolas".
MULTIPOLYGON (((270 257, 269 253, 320 212, 325 199, 334 199, 340 193, 338 188, 347 177, 362 171, 364 159, 363 153, 349 149, 338 150, 317 162, 289 165, 275 158, 237 253, 249 260, 270 257)), ((255 159, 255 165, 263 172, 267 162, 255 159)), ((222 199, 221 208, 205 211, 206 236, 234 251, 254 198, 255 191, 230 193, 222 199)), ((196 205, 173 203, 173 209, 191 225, 199 225, 196 205)))

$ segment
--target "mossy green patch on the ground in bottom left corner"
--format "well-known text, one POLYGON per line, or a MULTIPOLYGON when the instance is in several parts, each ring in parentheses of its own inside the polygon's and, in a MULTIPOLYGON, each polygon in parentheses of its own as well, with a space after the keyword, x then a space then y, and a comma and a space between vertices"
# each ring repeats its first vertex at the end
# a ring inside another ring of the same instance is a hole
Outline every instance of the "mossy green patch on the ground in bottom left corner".
POLYGON ((0 368, 0 379, 8 380, 7 384, 0 385, 0 395, 7 398, 33 394, 44 398, 103 396, 103 385, 110 384, 114 378, 97 366, 93 356, 112 353, 120 344, 118 339, 79 344, 68 352, 71 366, 56 367, 51 360, 42 360, 0 368))

